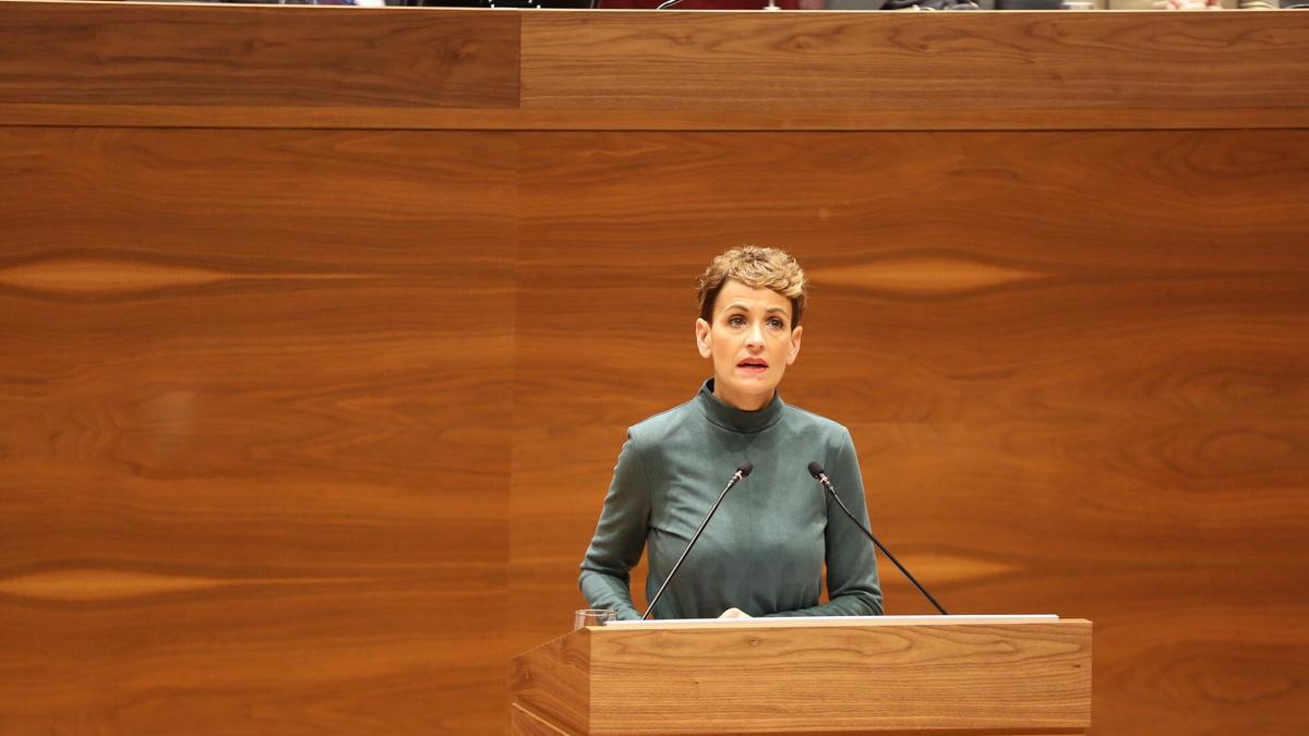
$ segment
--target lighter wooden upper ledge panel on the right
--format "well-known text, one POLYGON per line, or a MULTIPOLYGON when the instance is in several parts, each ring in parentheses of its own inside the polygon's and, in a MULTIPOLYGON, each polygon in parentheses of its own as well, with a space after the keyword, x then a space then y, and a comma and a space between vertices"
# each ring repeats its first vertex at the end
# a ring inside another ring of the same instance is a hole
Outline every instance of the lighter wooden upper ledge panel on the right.
POLYGON ((1309 63, 1309 20, 1279 20, 798 13, 778 24, 759 13, 529 14, 522 107, 923 117, 1058 107, 1076 117, 1221 106, 1257 117, 1309 103, 1297 81, 1309 63))

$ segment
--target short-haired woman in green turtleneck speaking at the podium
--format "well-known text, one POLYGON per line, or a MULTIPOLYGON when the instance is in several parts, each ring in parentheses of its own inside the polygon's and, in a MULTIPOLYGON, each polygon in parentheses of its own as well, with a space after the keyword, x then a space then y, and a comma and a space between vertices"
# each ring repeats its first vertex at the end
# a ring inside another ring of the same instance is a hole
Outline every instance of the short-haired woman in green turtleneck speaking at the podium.
POLYGON ((700 276, 695 344, 713 377, 691 401, 628 430, 581 563, 592 608, 640 618, 630 571, 641 551, 649 600, 733 471, 750 462, 651 617, 882 613, 872 546, 808 470, 821 464, 867 524, 850 432, 778 390, 800 354, 805 287, 795 258, 771 248, 728 250, 700 276), (830 600, 819 604, 825 571, 830 600))

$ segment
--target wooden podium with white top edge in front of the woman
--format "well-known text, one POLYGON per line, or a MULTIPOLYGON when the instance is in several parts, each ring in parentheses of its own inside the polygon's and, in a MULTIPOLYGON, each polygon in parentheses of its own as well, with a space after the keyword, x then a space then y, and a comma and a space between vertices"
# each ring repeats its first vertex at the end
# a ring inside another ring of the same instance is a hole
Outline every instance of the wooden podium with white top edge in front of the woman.
POLYGON ((632 622, 514 657, 514 733, 1085 733, 1090 622, 632 622))

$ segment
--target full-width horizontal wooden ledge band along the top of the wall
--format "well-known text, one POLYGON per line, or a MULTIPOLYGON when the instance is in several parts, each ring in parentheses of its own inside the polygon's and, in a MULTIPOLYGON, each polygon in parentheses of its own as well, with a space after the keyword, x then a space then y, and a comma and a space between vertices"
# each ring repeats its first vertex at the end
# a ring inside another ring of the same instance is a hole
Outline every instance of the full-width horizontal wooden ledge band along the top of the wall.
POLYGON ((0 122, 512 130, 1309 126, 1300 13, 486 13, 7 3, 0 122))

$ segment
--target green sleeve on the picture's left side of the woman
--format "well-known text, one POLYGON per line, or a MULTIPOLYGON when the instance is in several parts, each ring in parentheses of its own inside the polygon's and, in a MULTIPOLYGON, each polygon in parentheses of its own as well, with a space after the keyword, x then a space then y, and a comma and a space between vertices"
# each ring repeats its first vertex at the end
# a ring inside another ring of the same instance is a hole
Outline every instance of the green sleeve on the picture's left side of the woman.
POLYGON ((632 604, 631 568, 640 562, 645 547, 649 512, 645 466, 636 440, 628 432, 577 579, 592 608, 617 610, 622 619, 641 617, 632 604))

